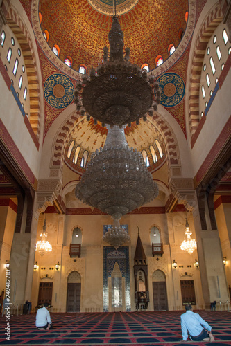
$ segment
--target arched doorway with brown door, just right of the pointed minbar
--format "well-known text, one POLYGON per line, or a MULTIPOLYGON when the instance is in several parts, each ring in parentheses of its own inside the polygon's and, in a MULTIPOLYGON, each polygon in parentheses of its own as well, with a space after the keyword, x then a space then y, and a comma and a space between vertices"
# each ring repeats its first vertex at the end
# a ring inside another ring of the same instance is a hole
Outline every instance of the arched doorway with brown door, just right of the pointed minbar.
POLYGON ((168 310, 166 277, 160 270, 153 273, 153 305, 154 311, 168 310))

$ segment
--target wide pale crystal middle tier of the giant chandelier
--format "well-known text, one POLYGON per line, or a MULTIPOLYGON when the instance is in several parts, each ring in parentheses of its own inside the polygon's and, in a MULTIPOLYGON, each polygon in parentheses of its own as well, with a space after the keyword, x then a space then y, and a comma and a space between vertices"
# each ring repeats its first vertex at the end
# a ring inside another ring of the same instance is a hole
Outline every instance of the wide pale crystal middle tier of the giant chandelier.
POLYGON ((76 197, 119 220, 157 195, 142 154, 128 147, 123 128, 108 126, 105 146, 92 153, 76 197))

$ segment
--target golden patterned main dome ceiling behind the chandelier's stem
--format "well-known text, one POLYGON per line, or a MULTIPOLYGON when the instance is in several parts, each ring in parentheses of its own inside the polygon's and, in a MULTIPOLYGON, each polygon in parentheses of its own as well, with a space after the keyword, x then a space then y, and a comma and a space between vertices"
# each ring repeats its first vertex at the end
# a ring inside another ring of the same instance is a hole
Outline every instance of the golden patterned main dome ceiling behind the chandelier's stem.
MULTIPOLYGON (((112 13, 112 3, 112 0, 39 1, 42 33, 44 30, 49 33, 51 49, 58 45, 62 62, 71 57, 76 71, 80 64, 96 67, 101 62, 112 24, 111 16, 101 12, 112 13)), ((125 47, 130 48, 131 62, 139 66, 147 63, 154 69, 157 55, 167 60, 169 44, 177 47, 180 30, 186 29, 188 6, 187 0, 180 1, 180 6, 175 0, 117 0, 118 11, 123 13, 119 21, 125 47)))

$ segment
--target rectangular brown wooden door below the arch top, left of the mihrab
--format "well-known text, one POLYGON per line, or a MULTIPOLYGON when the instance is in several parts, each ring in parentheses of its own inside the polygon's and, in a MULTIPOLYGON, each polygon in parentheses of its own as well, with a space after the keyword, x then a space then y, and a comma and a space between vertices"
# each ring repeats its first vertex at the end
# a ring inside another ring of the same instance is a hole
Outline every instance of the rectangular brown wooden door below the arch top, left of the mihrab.
POLYGON ((81 284, 67 284, 67 312, 80 312, 81 284))

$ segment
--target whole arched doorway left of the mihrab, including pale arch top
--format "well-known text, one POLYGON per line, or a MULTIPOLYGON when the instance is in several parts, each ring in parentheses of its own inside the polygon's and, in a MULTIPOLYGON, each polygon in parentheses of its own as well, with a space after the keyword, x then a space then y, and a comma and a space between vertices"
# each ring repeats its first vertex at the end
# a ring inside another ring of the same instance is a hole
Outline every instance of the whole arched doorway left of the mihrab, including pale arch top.
POLYGON ((72 271, 67 278, 67 312, 80 312, 81 277, 72 271))

